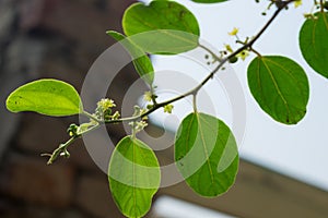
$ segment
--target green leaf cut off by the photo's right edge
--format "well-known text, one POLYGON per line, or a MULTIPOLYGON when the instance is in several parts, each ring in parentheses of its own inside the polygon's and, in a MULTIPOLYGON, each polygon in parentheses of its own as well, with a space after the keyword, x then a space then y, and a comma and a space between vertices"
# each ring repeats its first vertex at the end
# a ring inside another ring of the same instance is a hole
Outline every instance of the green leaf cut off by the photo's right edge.
POLYGON ((300 32, 300 47, 306 62, 328 78, 328 13, 307 19, 300 32))

